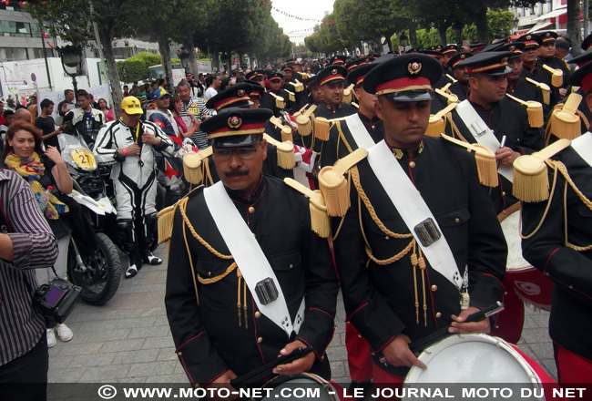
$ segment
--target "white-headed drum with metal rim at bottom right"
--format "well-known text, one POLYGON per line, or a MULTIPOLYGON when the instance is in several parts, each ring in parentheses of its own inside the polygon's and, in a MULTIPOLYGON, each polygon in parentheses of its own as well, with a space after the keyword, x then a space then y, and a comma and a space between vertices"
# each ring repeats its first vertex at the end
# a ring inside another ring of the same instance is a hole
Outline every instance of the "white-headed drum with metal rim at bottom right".
POLYGON ((540 395, 543 389, 536 369, 499 337, 454 334, 425 348, 418 358, 428 368, 423 370, 413 365, 403 388, 436 383, 521 384, 523 388, 533 389, 533 397, 521 399, 545 399, 534 396, 540 395))

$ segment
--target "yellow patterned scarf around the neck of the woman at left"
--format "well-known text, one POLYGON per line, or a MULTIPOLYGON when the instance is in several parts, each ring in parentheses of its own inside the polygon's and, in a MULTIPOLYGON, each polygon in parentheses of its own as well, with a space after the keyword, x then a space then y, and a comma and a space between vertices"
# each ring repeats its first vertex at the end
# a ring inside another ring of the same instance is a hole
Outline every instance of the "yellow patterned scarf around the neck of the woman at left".
MULTIPOLYGON (((35 194, 37 202, 44 196, 45 190, 39 179, 44 175, 46 168, 39 159, 39 155, 33 152, 33 156, 28 159, 21 159, 15 153, 9 153, 6 156, 5 163, 10 170, 14 170, 21 177, 28 181, 31 190, 35 194)), ((68 207, 58 200, 53 193, 49 194, 49 201, 47 202, 44 214, 47 219, 56 220, 59 215, 66 213, 68 207)))

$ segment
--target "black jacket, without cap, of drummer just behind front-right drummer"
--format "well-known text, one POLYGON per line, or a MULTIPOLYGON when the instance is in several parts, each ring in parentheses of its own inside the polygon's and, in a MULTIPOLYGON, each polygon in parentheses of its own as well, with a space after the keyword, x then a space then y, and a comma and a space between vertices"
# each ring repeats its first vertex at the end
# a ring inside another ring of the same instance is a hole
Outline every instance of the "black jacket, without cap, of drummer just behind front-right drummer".
MULTIPOLYGON (((506 137, 505 146, 523 155, 529 155, 544 147, 543 130, 534 129, 528 125, 526 107, 510 98, 503 98, 496 102, 492 108, 483 108, 476 103, 471 103, 475 111, 483 119, 487 127, 492 129, 500 142, 506 137)), ((464 125, 458 113, 453 110, 453 120, 464 139, 470 143, 476 143, 469 129, 464 125)), ((455 136, 450 124, 446 125, 446 133, 455 136)), ((499 185, 491 191, 495 211, 500 213, 518 200, 512 196, 512 183, 499 176, 499 185)))

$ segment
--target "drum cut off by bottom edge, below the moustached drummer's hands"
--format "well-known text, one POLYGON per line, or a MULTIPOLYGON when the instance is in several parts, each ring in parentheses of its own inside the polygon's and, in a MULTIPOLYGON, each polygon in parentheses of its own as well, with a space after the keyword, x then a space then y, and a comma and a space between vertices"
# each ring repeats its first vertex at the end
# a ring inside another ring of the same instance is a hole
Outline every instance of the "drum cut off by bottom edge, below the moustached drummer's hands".
POLYGON ((339 401, 342 387, 328 382, 319 375, 303 372, 300 375, 279 375, 273 377, 262 388, 272 388, 261 401, 271 400, 316 400, 339 401))

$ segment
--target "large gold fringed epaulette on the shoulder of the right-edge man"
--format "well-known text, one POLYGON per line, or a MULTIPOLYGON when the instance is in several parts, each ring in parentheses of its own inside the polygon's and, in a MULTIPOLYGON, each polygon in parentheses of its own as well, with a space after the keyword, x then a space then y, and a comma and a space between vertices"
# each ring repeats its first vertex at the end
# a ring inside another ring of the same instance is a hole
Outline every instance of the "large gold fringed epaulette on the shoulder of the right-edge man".
POLYGON ((518 200, 539 202, 549 198, 546 163, 536 156, 525 155, 514 160, 512 194, 518 200))

